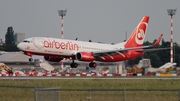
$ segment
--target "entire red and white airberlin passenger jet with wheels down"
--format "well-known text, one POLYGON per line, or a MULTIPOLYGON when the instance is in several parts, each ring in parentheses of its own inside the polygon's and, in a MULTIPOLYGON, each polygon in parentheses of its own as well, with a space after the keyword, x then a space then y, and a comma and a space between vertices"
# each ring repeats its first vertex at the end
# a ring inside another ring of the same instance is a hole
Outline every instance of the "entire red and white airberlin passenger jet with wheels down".
MULTIPOLYGON (((149 16, 144 16, 129 39, 122 43, 103 44, 51 37, 31 37, 20 42, 17 47, 30 57, 32 55, 42 55, 45 60, 50 62, 71 59, 71 68, 78 67, 74 60, 90 62, 89 67, 92 68, 97 66, 96 61, 118 62, 133 60, 142 56, 146 51, 162 50, 153 47, 159 45, 163 34, 154 44, 143 45, 149 18, 149 16)), ((33 59, 29 58, 29 61, 33 61, 33 59)))

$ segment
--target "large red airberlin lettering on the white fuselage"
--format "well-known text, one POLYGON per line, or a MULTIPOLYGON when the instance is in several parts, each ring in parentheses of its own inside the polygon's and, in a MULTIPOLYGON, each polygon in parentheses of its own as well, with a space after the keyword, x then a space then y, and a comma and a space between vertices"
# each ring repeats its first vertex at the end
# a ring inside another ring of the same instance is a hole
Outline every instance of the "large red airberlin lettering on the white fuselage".
POLYGON ((58 42, 55 40, 44 40, 43 43, 44 43, 45 48, 56 48, 56 49, 63 49, 63 50, 78 50, 78 45, 74 44, 70 41, 58 42))

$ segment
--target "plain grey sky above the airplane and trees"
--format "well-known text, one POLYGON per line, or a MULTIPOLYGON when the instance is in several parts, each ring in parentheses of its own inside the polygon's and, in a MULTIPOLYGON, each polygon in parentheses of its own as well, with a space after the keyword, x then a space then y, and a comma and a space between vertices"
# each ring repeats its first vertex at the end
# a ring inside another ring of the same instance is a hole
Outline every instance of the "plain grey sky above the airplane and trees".
POLYGON ((173 41, 180 44, 180 0, 0 0, 0 38, 7 28, 29 37, 61 38, 61 17, 66 10, 64 38, 104 43, 123 42, 143 16, 150 16, 145 41, 153 42, 162 33, 170 41, 170 16, 173 16, 173 41))

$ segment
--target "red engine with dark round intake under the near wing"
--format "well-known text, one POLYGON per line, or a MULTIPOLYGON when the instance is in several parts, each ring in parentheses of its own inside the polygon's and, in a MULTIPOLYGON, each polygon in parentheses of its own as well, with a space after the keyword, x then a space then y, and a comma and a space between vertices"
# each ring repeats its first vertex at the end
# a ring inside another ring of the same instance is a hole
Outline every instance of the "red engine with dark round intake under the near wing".
POLYGON ((94 55, 89 52, 79 52, 76 54, 76 59, 79 61, 93 61, 94 55))

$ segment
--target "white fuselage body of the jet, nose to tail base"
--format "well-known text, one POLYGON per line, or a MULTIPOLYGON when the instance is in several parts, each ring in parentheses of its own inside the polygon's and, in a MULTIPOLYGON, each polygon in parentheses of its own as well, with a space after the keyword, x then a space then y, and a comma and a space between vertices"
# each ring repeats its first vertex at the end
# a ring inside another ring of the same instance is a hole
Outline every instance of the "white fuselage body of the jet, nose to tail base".
POLYGON ((18 44, 18 48, 26 52, 40 53, 39 55, 72 56, 77 52, 95 52, 123 49, 124 43, 118 45, 75 41, 48 37, 34 37, 25 39, 18 44))

